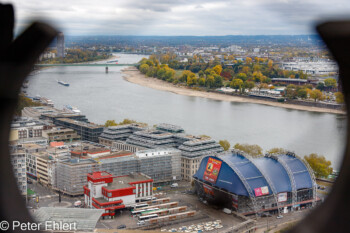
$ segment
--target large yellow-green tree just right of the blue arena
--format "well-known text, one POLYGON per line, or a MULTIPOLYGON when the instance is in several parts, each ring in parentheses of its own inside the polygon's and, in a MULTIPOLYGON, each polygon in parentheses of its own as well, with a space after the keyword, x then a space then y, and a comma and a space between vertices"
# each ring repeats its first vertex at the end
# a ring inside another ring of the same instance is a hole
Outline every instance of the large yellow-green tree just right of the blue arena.
POLYGON ((333 172, 332 162, 326 160, 323 155, 312 153, 305 155, 304 159, 309 163, 317 178, 327 178, 333 172))

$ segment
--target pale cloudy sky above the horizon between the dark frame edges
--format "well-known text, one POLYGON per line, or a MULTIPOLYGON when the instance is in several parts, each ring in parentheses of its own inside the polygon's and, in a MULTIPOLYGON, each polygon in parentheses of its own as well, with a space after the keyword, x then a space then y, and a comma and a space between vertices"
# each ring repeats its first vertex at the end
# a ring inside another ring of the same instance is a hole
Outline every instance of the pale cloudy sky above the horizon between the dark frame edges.
POLYGON ((16 30, 33 19, 66 35, 313 34, 315 22, 350 13, 348 0, 7 0, 16 30))

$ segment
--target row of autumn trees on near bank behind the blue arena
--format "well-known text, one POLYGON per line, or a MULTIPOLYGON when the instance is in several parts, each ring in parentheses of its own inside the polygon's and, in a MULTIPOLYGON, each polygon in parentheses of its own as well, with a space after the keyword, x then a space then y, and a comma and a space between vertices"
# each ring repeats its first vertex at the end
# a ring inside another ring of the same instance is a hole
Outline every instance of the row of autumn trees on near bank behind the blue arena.
MULTIPOLYGON (((221 140, 219 141, 219 144, 224 148, 225 151, 230 149, 230 143, 227 140, 221 140)), ((236 143, 233 148, 243 151, 252 157, 262 157, 264 155, 263 149, 256 144, 236 143)), ((269 154, 283 154, 286 152, 287 150, 277 147, 266 151, 266 153, 269 154)), ((327 178, 333 172, 331 161, 328 161, 323 155, 311 153, 310 155, 305 155, 304 160, 310 165, 317 178, 327 178)))

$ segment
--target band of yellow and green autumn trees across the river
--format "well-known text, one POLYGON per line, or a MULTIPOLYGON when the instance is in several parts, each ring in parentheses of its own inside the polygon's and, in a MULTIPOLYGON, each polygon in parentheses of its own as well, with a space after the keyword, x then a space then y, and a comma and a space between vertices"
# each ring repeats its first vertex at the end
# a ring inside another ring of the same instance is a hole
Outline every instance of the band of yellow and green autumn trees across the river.
MULTIPOLYGON (((271 79, 266 75, 270 75, 269 71, 278 71, 279 75, 289 78, 307 78, 302 71, 286 71, 279 70, 276 65, 273 64, 272 60, 263 58, 252 58, 247 57, 245 62, 235 61, 235 65, 232 67, 223 68, 222 65, 216 63, 201 63, 201 58, 195 56, 191 59, 191 64, 197 64, 200 69, 196 70, 184 70, 181 75, 177 75, 174 69, 171 67, 179 68, 178 61, 175 60, 175 54, 162 54, 162 55, 151 55, 149 59, 142 59, 138 68, 146 74, 148 77, 156 77, 174 84, 183 83, 187 86, 193 87, 206 87, 206 88, 220 88, 222 86, 231 87, 239 93, 245 93, 245 90, 251 90, 255 87, 260 91, 261 89, 274 89, 275 87, 269 85, 271 79), (160 64, 167 62, 167 64, 160 64), (176 61, 176 62, 175 62, 176 61), (215 66, 212 66, 216 64, 215 66), (198 73, 194 72, 197 71, 198 73), (282 72, 282 73, 281 73, 282 72)), ((186 68, 186 67, 185 67, 186 68)), ((280 77, 280 76, 279 76, 280 77)), ((334 88, 337 85, 337 81, 333 78, 325 79, 324 83, 320 83, 316 89, 313 89, 311 84, 296 86, 288 85, 284 92, 284 96, 288 99, 308 99, 311 98, 315 102, 330 98, 325 96, 322 91, 329 88, 334 88)), ((336 93, 336 101, 338 103, 344 102, 343 95, 339 92, 336 93)))

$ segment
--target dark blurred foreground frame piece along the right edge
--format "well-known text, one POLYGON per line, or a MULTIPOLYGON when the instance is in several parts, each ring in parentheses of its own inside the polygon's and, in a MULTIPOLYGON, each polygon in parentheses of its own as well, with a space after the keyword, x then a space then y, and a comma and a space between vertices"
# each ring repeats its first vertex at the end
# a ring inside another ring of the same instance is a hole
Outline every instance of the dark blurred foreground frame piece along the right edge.
POLYGON ((290 232, 350 232, 350 21, 325 22, 316 29, 339 65, 348 115, 346 148, 339 177, 329 196, 290 232))

